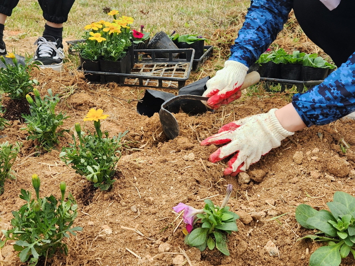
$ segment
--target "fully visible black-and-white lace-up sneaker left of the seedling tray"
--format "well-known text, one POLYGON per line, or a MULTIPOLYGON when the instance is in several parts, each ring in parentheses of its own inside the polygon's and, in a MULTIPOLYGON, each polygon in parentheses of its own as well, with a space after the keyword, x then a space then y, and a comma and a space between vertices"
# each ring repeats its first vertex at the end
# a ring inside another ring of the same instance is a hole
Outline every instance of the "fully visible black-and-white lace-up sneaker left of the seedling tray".
POLYGON ((33 59, 42 63, 41 68, 50 67, 55 71, 62 70, 64 51, 59 39, 43 36, 39 37, 34 44, 37 44, 37 50, 33 59))

